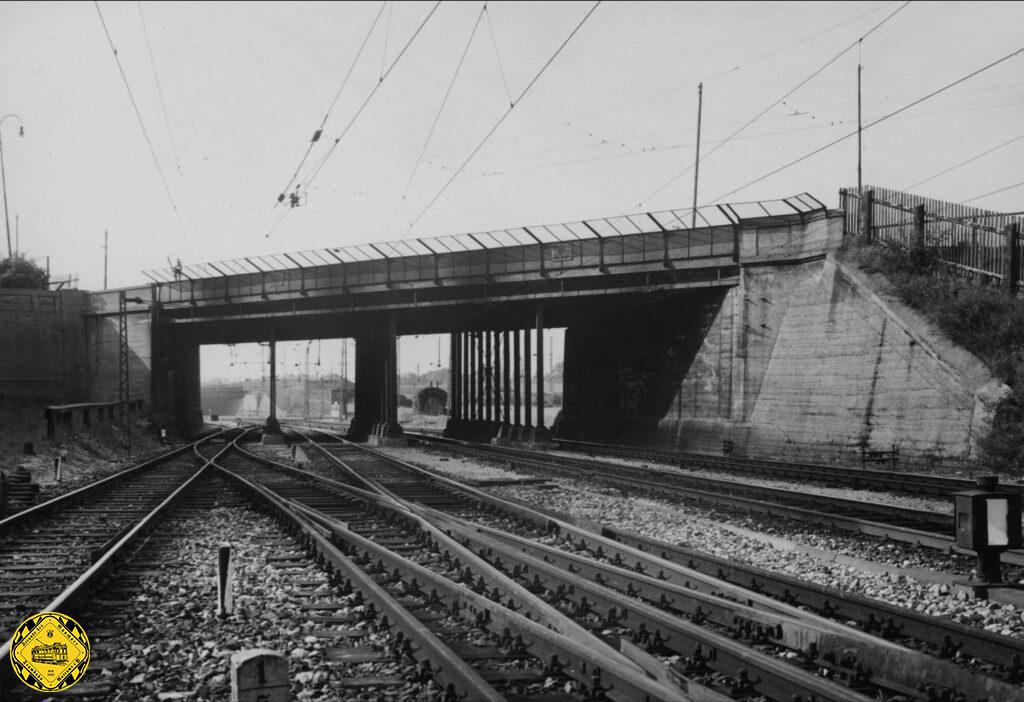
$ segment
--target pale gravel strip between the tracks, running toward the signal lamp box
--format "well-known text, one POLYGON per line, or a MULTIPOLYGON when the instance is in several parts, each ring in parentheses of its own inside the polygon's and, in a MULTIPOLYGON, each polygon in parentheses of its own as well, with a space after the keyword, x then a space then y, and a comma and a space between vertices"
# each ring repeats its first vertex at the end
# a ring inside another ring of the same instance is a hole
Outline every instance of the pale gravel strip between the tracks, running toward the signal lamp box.
MULTIPOLYGON (((453 456, 447 451, 420 448, 387 449, 402 460, 443 473, 456 479, 515 477, 493 463, 453 456)), ((695 502, 675 502, 623 491, 595 481, 552 478, 556 486, 505 486, 488 491, 632 531, 651 538, 691 546, 738 563, 786 573, 804 580, 857 593, 954 621, 980 626, 1002 635, 1024 638, 1024 619, 1013 605, 971 600, 951 587, 951 576, 966 577, 974 559, 945 555, 912 544, 829 530, 797 520, 752 515, 743 511, 710 509, 695 502), (809 556, 794 543, 818 550, 829 557, 809 556), (836 557, 885 566, 865 569, 839 562, 836 557), (919 569, 923 577, 900 571, 919 569), (882 570, 883 572, 878 572, 882 570), (887 572, 888 571, 888 572, 887 572), (931 575, 931 577, 930 577, 931 575)), ((846 491, 835 488, 837 496, 846 491)), ((1019 580, 1018 569, 1005 567, 1005 574, 1019 580)))

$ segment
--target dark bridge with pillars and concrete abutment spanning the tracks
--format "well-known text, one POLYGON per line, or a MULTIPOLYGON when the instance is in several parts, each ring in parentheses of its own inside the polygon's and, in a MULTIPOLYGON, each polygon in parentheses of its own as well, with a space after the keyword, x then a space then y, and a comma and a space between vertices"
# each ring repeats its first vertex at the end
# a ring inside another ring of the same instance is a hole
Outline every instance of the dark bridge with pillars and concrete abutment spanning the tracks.
MULTIPOLYGON (((967 457, 983 379, 871 298, 831 256, 842 235, 842 213, 805 193, 146 271, 124 292, 132 394, 190 433, 200 346, 351 338, 351 435, 386 439, 401 434, 396 338, 440 333, 454 436, 967 457), (557 418, 527 380, 550 327, 565 330, 557 418)), ((116 336, 120 295, 91 295, 90 345, 116 336)), ((116 370, 94 385, 110 394, 116 370)))

